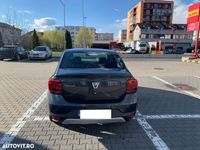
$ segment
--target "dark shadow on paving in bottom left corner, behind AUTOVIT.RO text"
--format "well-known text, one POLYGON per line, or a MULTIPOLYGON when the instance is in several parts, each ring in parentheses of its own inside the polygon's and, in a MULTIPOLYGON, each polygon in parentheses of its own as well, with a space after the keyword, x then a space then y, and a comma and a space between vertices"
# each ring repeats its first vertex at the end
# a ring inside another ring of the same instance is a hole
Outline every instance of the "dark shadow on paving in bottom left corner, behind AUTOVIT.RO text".
MULTIPOLYGON (((0 139, 3 136, 4 136, 4 133, 0 132, 0 139)), ((7 135, 7 136, 9 137, 10 135, 7 135)), ((47 149, 47 148, 45 146, 39 144, 39 143, 35 143, 35 142, 32 142, 31 140, 23 139, 23 138, 21 138, 19 136, 16 136, 10 144, 0 143, 0 149, 2 149, 2 150, 3 149, 7 149, 7 150, 11 150, 11 149, 37 149, 37 150, 44 150, 44 149, 47 149), (18 145, 18 144, 20 144, 20 145, 18 145), (11 147, 11 146, 13 146, 13 147, 11 147), (17 148, 15 146, 20 146, 20 148, 17 148), (26 147, 23 147, 23 146, 26 146, 26 147)))

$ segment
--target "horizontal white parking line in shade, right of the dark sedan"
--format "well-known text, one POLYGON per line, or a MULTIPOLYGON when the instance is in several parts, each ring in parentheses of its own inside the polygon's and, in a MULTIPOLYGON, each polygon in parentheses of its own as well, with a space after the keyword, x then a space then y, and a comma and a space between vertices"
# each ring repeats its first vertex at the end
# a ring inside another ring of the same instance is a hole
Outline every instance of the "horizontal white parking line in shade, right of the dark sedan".
POLYGON ((194 115, 142 115, 144 119, 200 119, 200 114, 194 115))

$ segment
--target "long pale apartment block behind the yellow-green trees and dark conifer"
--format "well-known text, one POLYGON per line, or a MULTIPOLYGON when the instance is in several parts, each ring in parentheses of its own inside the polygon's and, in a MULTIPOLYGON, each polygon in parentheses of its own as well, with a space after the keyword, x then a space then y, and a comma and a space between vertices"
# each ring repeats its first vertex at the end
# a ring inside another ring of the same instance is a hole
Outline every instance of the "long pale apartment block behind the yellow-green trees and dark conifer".
MULTIPOLYGON (((78 32, 80 31, 81 28, 83 28, 83 27, 82 26, 66 26, 65 28, 63 26, 55 27, 55 29, 58 30, 58 31, 68 30, 70 32, 73 47, 77 47, 76 36, 77 36, 77 34, 78 34, 78 32)), ((95 38, 96 29, 93 28, 93 27, 87 27, 87 29, 89 29, 92 32, 93 37, 95 38)))

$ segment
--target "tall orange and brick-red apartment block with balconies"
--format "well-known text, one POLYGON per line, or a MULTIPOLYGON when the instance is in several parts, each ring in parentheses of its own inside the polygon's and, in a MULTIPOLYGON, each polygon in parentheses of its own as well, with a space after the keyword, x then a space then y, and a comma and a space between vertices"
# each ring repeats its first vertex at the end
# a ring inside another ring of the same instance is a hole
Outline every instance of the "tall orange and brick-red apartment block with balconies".
POLYGON ((141 0, 128 12, 127 41, 132 41, 133 30, 137 23, 164 25, 172 24, 173 1, 141 0))

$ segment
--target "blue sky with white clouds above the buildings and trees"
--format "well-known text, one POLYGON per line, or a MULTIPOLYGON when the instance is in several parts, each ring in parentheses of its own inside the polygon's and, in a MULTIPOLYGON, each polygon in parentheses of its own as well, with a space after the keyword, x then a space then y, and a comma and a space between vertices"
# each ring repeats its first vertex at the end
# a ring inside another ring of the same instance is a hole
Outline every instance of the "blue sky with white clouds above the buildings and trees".
MULTIPOLYGON (((17 20, 17 25, 40 30, 63 25, 63 7, 59 0, 0 0, 0 21, 17 20), (14 17, 16 16, 16 17, 14 17), (17 18, 17 19, 12 19, 17 18)), ((82 25, 82 0, 66 3, 66 25, 82 25)), ((97 32, 114 32, 126 27, 127 11, 139 0, 84 0, 86 25, 97 32)), ((187 7, 199 0, 174 0, 174 22, 186 21, 187 7)), ((10 21, 10 23, 16 21, 10 21)))

